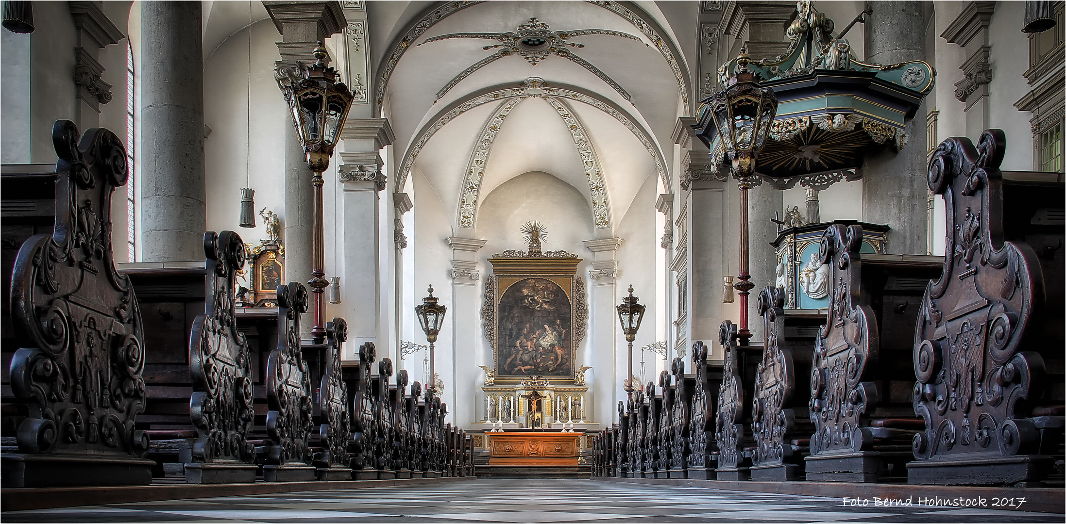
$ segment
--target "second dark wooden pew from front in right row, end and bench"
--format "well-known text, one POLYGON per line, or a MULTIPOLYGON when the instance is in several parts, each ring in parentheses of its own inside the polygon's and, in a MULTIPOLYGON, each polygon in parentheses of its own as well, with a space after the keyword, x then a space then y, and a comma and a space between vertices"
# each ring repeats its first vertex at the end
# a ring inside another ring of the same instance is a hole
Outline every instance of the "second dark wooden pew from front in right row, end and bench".
POLYGON ((808 480, 900 480, 914 416, 907 356, 918 291, 939 274, 930 257, 859 252, 860 226, 830 226, 821 261, 831 272, 810 376, 808 480))

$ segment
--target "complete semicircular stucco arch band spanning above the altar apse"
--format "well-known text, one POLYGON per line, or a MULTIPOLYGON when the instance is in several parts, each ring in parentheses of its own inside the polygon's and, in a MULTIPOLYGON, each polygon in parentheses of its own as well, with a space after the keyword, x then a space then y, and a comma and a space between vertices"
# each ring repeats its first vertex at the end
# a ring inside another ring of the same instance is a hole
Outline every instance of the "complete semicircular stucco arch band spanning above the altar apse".
POLYGON ((579 102, 592 105, 611 115, 616 120, 618 120, 619 124, 625 126, 626 129, 629 129, 629 131, 633 133, 633 136, 635 136, 636 140, 644 145, 644 148, 648 151, 648 154, 651 155, 651 160, 656 163, 656 171, 659 174, 659 178, 663 182, 663 187, 665 187, 666 191, 669 191, 671 187, 669 177, 666 176, 666 170, 663 168, 663 160, 662 155, 659 153, 659 149, 648 138, 647 134, 645 134, 644 131, 636 124, 630 120, 629 117, 624 115, 615 108, 612 108, 608 103, 603 102, 602 100, 597 100, 587 95, 572 92, 569 89, 564 89, 560 87, 547 87, 544 85, 543 83, 544 81, 540 79, 530 79, 527 80, 527 82, 529 83, 532 80, 536 80, 535 86, 533 86, 534 84, 530 84, 529 86, 523 86, 523 87, 512 87, 506 89, 500 89, 471 98, 470 100, 467 100, 456 105, 455 108, 452 108, 450 111, 448 111, 443 115, 439 116, 436 120, 434 120, 432 125, 423 128, 418 135, 418 140, 414 142, 414 145, 407 148, 407 152, 404 154, 404 161, 400 167, 400 177, 398 181, 399 184, 398 186, 403 187, 403 184, 406 183, 407 175, 410 173, 411 166, 415 165, 415 160, 418 158, 418 153, 422 151, 422 148, 425 147, 425 144, 430 142, 430 138, 432 138, 437 131, 447 126, 450 121, 455 119, 455 117, 459 116, 461 114, 473 108, 482 105, 484 103, 502 100, 505 98, 520 97, 524 99, 531 96, 552 95, 559 98, 577 100, 579 102))

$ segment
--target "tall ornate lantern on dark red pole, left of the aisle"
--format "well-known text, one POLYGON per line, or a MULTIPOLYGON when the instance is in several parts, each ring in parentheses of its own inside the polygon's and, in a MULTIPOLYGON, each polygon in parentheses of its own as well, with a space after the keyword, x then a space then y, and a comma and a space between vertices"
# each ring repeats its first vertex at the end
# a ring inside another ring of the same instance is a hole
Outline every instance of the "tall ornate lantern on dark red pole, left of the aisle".
POLYGON ((338 82, 339 75, 328 67, 329 55, 322 43, 312 53, 316 62, 307 65, 296 64, 293 77, 278 77, 278 85, 285 95, 285 101, 292 110, 296 122, 296 133, 304 144, 307 155, 307 168, 313 173, 313 246, 311 252, 311 279, 308 285, 314 293, 314 327, 311 335, 316 344, 325 340, 325 307, 322 294, 329 281, 324 277, 325 255, 322 226, 322 171, 329 167, 329 157, 340 137, 340 130, 348 118, 348 110, 352 107, 352 93, 348 86, 338 82))

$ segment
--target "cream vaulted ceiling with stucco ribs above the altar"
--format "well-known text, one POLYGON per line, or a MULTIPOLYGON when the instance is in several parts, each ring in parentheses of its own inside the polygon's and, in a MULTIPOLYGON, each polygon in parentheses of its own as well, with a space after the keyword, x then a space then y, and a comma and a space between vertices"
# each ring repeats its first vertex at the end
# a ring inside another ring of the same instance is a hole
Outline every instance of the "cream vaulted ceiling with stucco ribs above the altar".
POLYGON ((648 177, 668 189, 688 66, 655 3, 398 3, 368 2, 368 14, 394 21, 373 53, 399 183, 417 166, 453 228, 472 227, 479 201, 533 170, 586 195, 604 232, 648 177))

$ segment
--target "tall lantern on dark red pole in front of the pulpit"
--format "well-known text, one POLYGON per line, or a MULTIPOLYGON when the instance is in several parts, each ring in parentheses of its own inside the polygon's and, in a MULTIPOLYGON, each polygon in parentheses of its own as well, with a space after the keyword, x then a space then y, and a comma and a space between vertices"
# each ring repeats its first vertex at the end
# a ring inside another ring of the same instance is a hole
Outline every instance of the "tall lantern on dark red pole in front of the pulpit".
POLYGON ((710 100, 711 115, 722 136, 722 145, 732 161, 732 177, 740 189, 740 275, 733 284, 740 293, 740 331, 745 342, 752 338, 747 329, 747 297, 755 284, 748 273, 747 192, 758 185, 755 163, 766 145, 770 128, 777 114, 777 97, 773 89, 759 87, 759 76, 747 68, 750 58, 742 50, 737 69, 725 88, 710 100))

